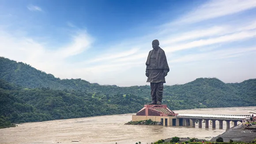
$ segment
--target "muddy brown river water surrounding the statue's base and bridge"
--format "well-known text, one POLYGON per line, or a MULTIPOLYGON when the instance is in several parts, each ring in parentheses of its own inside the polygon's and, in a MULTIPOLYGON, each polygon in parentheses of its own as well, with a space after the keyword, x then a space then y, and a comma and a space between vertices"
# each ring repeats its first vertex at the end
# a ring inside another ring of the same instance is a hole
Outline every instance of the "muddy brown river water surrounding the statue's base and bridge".
MULTIPOLYGON (((175 113, 233 114, 248 115, 256 112, 256 107, 202 108, 179 110, 175 113)), ((132 120, 134 114, 105 115, 79 119, 61 119, 45 122, 27 122, 17 127, 0 129, 1 144, 151 144, 169 137, 196 137, 206 140, 225 132, 223 129, 185 127, 185 126, 135 126, 124 125, 132 120), (75 141, 75 142, 74 142, 75 141)), ((230 122, 231 123, 231 122, 230 122)), ((211 127, 211 125, 209 125, 211 127)))

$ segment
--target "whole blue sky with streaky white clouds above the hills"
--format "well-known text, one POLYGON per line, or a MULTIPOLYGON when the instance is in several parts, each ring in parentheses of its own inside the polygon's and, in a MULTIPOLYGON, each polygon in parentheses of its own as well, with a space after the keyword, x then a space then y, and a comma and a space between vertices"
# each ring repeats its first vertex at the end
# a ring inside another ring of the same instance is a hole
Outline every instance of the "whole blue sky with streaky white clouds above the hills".
POLYGON ((0 56, 56 77, 149 85, 158 39, 166 85, 256 78, 255 0, 0 0, 0 56))

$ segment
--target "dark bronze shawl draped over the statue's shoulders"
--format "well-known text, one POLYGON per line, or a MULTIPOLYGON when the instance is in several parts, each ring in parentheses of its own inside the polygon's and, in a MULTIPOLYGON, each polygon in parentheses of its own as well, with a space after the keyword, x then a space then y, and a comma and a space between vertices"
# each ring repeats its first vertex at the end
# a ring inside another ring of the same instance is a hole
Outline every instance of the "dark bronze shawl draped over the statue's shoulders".
MULTIPOLYGON (((150 65, 150 57, 153 50, 150 50, 147 56, 146 65, 150 65)), ((169 66, 166 59, 165 51, 159 47, 157 53, 156 53, 156 68, 157 69, 167 69, 167 72, 169 72, 169 66)))

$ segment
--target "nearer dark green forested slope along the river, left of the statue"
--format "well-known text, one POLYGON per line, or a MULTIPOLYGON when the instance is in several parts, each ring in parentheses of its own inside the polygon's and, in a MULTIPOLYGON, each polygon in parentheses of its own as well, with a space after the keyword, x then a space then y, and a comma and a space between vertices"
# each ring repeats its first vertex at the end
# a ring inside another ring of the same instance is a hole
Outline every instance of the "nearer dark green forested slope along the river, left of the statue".
POLYGON ((75 90, 23 88, 0 79, 0 127, 6 126, 5 121, 38 122, 132 113, 139 111, 145 101, 130 94, 110 97, 75 90))

